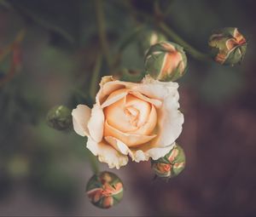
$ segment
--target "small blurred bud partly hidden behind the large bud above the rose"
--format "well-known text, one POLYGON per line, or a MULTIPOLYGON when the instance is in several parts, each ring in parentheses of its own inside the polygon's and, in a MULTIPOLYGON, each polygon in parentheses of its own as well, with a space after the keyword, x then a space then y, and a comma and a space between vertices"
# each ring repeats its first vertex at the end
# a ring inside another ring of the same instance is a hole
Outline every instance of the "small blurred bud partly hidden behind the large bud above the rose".
POLYGON ((165 37, 165 35, 163 35, 159 31, 143 31, 143 33, 140 35, 139 47, 142 51, 142 54, 145 54, 147 53, 149 47, 151 47, 155 43, 160 43, 166 40, 167 38, 165 37))

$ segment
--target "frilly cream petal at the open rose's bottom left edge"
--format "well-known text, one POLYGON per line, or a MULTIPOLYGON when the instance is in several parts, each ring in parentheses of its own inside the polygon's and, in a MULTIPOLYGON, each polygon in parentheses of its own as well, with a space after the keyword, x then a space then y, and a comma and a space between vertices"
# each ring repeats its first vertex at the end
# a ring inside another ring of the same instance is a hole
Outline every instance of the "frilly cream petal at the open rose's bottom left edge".
POLYGON ((112 146, 103 142, 97 143, 88 137, 87 148, 98 156, 99 161, 108 163, 109 168, 120 168, 128 163, 128 157, 116 151, 112 146))

